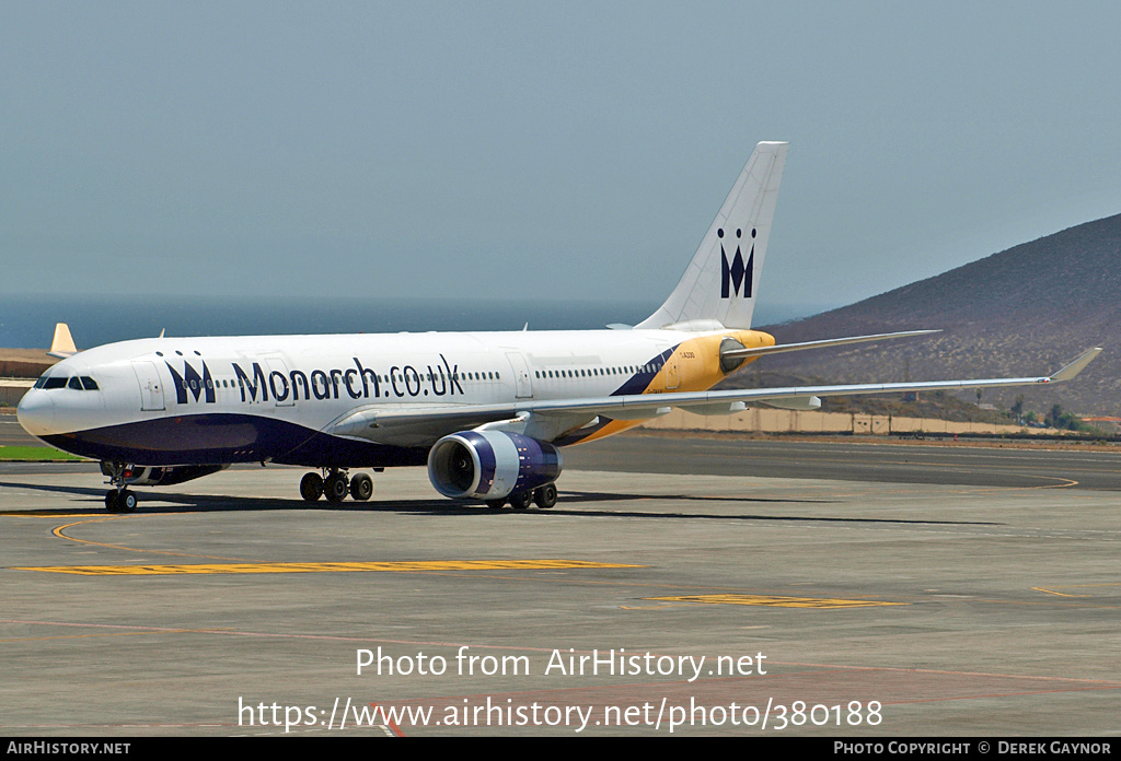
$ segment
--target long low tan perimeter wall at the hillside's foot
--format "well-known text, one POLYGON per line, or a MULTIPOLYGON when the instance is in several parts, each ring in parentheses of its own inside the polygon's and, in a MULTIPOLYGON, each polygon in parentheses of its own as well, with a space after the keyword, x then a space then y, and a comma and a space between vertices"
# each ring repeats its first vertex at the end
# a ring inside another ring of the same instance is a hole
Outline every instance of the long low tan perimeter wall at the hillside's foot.
POLYGON ((760 433, 1057 433, 1054 429, 1026 429, 992 423, 954 423, 935 417, 893 417, 840 412, 795 412, 752 407, 734 415, 694 415, 674 410, 647 421, 642 428, 675 431, 744 431, 760 433))

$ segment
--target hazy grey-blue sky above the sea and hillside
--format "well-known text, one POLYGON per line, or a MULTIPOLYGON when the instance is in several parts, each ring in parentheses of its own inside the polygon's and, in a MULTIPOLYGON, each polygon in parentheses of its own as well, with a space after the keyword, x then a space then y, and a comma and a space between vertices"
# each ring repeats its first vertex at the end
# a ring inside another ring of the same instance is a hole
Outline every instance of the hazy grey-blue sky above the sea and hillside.
POLYGON ((0 293, 660 300, 789 140, 761 301, 847 303, 1121 212, 1119 30, 1117 2, 0 0, 0 293))

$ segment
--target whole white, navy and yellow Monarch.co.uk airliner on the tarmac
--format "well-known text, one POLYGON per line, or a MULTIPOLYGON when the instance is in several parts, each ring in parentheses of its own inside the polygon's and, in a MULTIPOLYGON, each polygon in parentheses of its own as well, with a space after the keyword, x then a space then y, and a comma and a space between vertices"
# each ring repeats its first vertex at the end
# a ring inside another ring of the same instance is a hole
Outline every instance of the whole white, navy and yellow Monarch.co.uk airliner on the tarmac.
POLYGON ((18 407, 57 449, 101 461, 105 508, 130 487, 170 486, 232 463, 313 469, 304 499, 368 500, 364 472, 426 466, 436 490, 493 509, 557 501, 560 449, 680 407, 728 415, 748 403, 815 410, 821 397, 1068 380, 1049 376, 708 391, 760 357, 908 336, 776 345, 751 329, 788 143, 761 142, 666 301, 603 330, 164 337, 77 351, 59 323, 47 369, 18 407))

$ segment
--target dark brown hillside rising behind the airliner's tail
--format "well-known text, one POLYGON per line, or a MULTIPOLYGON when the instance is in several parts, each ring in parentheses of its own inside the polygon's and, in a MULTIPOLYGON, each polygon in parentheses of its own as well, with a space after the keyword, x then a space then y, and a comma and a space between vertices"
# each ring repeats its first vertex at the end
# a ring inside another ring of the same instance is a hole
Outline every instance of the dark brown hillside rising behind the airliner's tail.
MULTIPOLYGON (((1121 414, 1121 215, 1071 227, 859 303, 761 328, 779 342, 939 328, 918 339, 776 355, 760 369, 831 383, 1038 375, 1092 346, 1105 351, 1075 380, 990 389, 983 401, 1121 414)), ((751 366, 741 373, 751 373, 751 366)), ((726 384, 740 385, 736 376, 726 384)), ((962 392, 975 401, 976 392, 962 392)))

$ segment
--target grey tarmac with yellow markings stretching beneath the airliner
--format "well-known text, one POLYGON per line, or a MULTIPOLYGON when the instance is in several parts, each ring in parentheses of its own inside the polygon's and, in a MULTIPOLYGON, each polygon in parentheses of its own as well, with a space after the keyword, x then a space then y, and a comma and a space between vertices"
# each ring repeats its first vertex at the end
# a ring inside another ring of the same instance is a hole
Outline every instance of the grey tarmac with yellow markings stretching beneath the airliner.
POLYGON ((1121 455, 565 457, 526 513, 256 467, 120 516, 0 466, 0 734, 1115 735, 1121 455))

